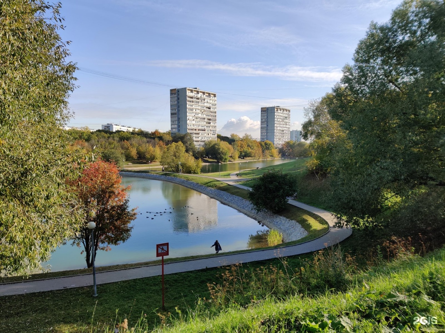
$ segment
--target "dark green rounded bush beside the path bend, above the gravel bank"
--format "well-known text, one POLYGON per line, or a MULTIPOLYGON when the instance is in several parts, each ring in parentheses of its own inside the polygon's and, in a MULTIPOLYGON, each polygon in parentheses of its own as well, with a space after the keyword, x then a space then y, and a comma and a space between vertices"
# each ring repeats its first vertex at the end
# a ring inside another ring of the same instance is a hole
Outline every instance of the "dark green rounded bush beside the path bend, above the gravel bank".
POLYGON ((249 193, 249 199, 258 211, 278 213, 287 205, 287 197, 297 191, 296 178, 281 170, 270 170, 257 178, 249 193))

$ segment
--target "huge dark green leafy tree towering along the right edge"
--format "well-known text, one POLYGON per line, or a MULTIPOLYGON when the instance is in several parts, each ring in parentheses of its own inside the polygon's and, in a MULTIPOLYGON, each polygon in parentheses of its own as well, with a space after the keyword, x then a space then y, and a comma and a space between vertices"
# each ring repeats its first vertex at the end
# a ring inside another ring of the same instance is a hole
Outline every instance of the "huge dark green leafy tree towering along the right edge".
POLYGON ((353 224, 392 223, 393 210, 443 192, 444 17, 443 1, 404 1, 387 23, 371 23, 333 89, 329 115, 349 145, 333 155, 332 202, 353 224))

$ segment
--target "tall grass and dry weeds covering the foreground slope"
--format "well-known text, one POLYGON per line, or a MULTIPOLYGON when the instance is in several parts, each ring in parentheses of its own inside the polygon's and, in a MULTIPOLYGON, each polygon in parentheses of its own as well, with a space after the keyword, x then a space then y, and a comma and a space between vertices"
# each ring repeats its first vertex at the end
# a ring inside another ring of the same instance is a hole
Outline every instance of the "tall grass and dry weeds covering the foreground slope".
MULTIPOLYGON (((299 267, 284 259, 255 270, 227 267, 220 281, 208 284, 210 299, 198 299, 187 313, 160 313, 154 331, 439 331, 445 327, 445 250, 421 258, 408 243, 394 244, 396 259, 388 262, 383 255, 363 272, 339 247, 318 251, 299 267), (419 316, 435 317, 437 324, 421 325, 419 316)), ((148 331, 142 317, 130 329, 148 331)))

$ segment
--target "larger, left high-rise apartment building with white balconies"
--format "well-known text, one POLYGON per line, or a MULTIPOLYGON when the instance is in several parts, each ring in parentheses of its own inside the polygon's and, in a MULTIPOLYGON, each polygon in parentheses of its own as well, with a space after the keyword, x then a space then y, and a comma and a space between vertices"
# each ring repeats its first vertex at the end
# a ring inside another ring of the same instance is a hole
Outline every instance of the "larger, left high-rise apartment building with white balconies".
POLYGON ((171 134, 190 133, 196 147, 216 140, 216 93, 199 88, 170 89, 171 134))

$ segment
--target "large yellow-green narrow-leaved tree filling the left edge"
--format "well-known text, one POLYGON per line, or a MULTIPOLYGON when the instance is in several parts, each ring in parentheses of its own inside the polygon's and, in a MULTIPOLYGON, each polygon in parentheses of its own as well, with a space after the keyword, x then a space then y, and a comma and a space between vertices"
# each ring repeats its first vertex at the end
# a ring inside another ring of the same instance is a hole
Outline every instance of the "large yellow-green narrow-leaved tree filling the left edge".
POLYGON ((0 2, 1 274, 40 268, 81 222, 65 184, 81 156, 62 129, 76 66, 65 60, 59 9, 40 0, 0 2))

